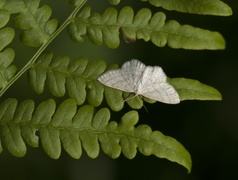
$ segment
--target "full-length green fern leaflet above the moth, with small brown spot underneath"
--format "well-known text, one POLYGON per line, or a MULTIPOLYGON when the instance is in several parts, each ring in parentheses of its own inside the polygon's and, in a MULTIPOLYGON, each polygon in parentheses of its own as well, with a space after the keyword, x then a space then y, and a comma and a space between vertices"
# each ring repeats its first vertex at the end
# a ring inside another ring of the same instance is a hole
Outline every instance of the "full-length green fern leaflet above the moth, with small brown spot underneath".
POLYGON ((218 32, 180 25, 171 20, 165 22, 165 14, 152 13, 143 8, 134 15, 131 7, 124 7, 119 15, 115 8, 108 8, 99 15, 91 14, 90 7, 84 8, 69 26, 71 37, 77 42, 87 34, 91 42, 101 45, 103 41, 109 48, 120 44, 120 30, 127 42, 143 39, 151 40, 156 46, 166 44, 172 48, 185 49, 224 49, 225 40, 218 32))

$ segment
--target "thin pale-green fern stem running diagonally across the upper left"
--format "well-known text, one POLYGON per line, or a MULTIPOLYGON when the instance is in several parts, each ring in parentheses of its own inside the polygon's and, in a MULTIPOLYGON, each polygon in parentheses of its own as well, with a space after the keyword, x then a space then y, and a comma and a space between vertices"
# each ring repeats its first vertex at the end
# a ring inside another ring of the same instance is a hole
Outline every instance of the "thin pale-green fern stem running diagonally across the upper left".
POLYGON ((8 81, 8 84, 3 87, 0 91, 0 97, 11 87, 11 85, 20 78, 34 62, 37 58, 42 54, 42 52, 48 47, 48 45, 58 36, 70 23, 70 21, 76 16, 78 11, 83 7, 83 5, 87 2, 87 0, 82 0, 81 3, 74 9, 74 11, 70 14, 70 16, 64 21, 64 23, 50 36, 49 40, 41 45, 38 51, 34 54, 34 56, 28 61, 28 63, 12 78, 8 81))

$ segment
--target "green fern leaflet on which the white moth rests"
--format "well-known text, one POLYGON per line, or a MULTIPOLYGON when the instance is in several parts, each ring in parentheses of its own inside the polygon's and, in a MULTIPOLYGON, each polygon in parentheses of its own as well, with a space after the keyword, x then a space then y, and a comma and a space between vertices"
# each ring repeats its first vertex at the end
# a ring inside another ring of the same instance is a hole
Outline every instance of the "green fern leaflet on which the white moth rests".
MULTIPOLYGON (((109 69, 118 66, 111 66, 109 69)), ((32 89, 43 93, 48 84, 50 92, 57 97, 65 95, 74 98, 78 105, 87 99, 89 104, 97 107, 103 101, 103 94, 110 108, 120 111, 124 106, 124 99, 130 94, 109 88, 97 81, 97 77, 105 71, 104 61, 88 62, 86 58, 79 58, 70 62, 69 57, 53 58, 52 53, 45 53, 29 70, 28 80, 32 89)), ((221 100, 221 94, 214 88, 196 80, 185 78, 168 78, 168 82, 177 90, 180 100, 221 100)), ((143 98, 146 102, 155 101, 143 98)), ((137 96, 126 100, 133 109, 143 106, 142 97, 137 96)))

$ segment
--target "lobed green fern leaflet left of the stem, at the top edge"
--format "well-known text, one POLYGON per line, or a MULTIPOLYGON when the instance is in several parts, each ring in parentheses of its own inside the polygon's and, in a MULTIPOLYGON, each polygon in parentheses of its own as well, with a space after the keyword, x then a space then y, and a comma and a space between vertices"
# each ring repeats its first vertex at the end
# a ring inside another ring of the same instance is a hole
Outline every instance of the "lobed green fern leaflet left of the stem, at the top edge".
POLYGON ((9 0, 3 8, 11 13, 19 13, 15 19, 16 27, 22 29, 21 41, 28 46, 38 47, 47 42, 58 26, 56 19, 49 20, 51 8, 39 7, 40 0, 9 0))

